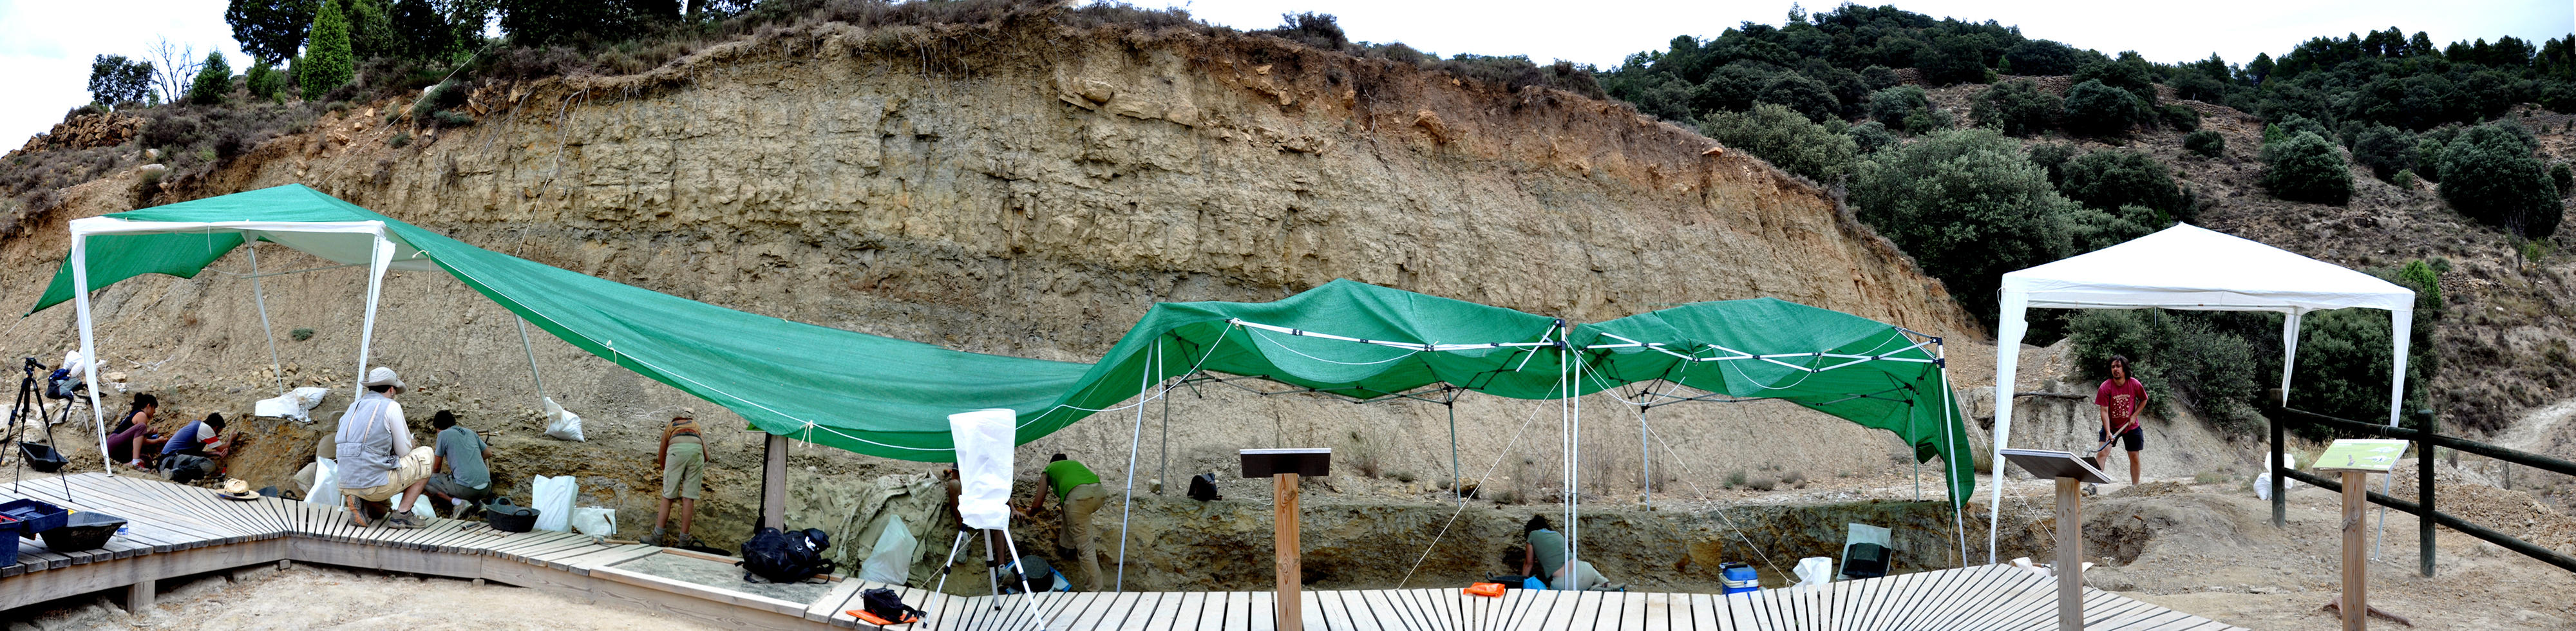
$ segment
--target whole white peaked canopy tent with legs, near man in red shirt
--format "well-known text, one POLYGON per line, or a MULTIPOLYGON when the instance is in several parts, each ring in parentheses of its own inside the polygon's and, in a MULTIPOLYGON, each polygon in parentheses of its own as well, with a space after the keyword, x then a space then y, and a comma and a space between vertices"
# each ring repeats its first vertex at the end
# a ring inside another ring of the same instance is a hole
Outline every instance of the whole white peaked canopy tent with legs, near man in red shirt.
MULTIPOLYGON (((2290 397, 2298 361, 2298 319, 2318 309, 2388 309, 2396 368, 2388 384, 2388 425, 2398 425, 2406 399, 2406 330, 2414 327, 2414 291, 2334 263, 2293 255, 2244 237, 2174 224, 2123 245, 2058 263, 2004 273, 2002 322, 1994 340, 1994 448, 2012 438, 2012 379, 2020 363, 2027 312, 2045 309, 2190 309, 2280 312, 2280 389, 2290 397)), ((1986 561, 1996 554, 2004 458, 1994 458, 1996 497, 1986 518, 1986 561)))

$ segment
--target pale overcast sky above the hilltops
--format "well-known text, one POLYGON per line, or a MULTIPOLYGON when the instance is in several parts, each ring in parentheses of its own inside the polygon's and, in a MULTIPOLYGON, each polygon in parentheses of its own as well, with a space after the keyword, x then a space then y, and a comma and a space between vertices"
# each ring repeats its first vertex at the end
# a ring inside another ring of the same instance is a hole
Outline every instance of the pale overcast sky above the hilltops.
MULTIPOLYGON (((1790 3, 1731 0, 1133 0, 1175 5, 1234 28, 1270 28, 1280 13, 1332 13, 1355 41, 1404 41, 1437 54, 1528 54, 1535 62, 1571 59, 1615 67, 1633 52, 1664 49, 1672 36, 1716 36, 1728 26, 1780 23, 1790 3)), ((2022 26, 2022 36, 2056 39, 2107 54, 2141 52, 2154 62, 2228 62, 2280 54, 2311 36, 2342 36, 2398 26, 2427 31, 2432 41, 2553 39, 2576 31, 2571 0, 1904 0, 1904 10, 1935 18, 2022 26)), ((1829 10, 1829 3, 1808 3, 1829 10)), ((44 134, 62 113, 88 103, 90 57, 144 57, 155 39, 224 52, 232 70, 250 57, 224 26, 224 0, 0 0, 0 149, 44 134)))

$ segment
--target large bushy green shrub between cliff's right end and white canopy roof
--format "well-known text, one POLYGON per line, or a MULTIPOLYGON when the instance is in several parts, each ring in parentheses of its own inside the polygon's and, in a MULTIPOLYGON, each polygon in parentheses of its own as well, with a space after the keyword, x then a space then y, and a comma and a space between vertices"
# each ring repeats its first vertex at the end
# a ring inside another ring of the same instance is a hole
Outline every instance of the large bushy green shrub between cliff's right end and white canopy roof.
POLYGON ((2074 252, 2079 206, 1991 129, 1945 129, 1862 160, 1850 201, 1989 322, 2007 270, 2074 252))

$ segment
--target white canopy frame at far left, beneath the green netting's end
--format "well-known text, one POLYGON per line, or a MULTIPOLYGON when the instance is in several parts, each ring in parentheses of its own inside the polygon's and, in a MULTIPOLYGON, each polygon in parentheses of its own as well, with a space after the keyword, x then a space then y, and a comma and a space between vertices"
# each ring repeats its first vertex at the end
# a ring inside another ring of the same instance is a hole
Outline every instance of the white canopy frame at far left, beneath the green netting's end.
MULTIPOLYGON (((366 265, 366 322, 358 330, 358 371, 366 376, 366 350, 376 337, 376 299, 384 294, 386 270, 435 270, 417 247, 386 232, 384 221, 129 221, 113 216, 88 216, 72 219, 72 306, 80 319, 80 355, 98 358, 98 340, 93 335, 90 319, 90 265, 88 250, 90 237, 106 234, 240 234, 245 245, 276 242, 286 245, 340 265, 366 265)), ((252 263, 258 265, 258 263, 252 263)), ((252 278, 258 278, 252 268, 252 278)), ((252 286, 258 291, 258 286, 252 286)), ((268 309, 265 299, 260 309, 260 322, 265 325, 268 309)), ((82 381, 98 384, 98 361, 82 368, 82 381)), ((358 381, 350 381, 353 391, 358 381)), ((355 397, 355 394, 350 394, 355 397)), ((108 456, 108 420, 106 407, 98 404, 98 389, 90 389, 90 420, 98 425, 98 456, 108 456)), ((113 469, 113 464, 108 464, 113 469)))

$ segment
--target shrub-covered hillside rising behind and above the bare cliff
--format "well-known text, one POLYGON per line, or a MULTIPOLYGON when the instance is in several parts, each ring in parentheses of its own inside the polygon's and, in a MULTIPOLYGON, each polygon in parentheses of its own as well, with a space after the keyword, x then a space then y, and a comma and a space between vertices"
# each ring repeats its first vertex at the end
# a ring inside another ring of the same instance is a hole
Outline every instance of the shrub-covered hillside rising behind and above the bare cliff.
MULTIPOLYGON (((495 116, 474 95, 528 80, 644 75, 801 23, 994 23, 1030 8, 1231 31, 1185 10, 1015 0, 232 0, 224 18, 255 59, 100 54, 95 103, 5 157, 0 237, 52 211, 59 188, 134 165, 155 165, 134 206, 204 196, 209 173, 322 116, 371 111, 404 147, 495 116)), ((1999 21, 1839 5, 1674 36, 1605 70, 1350 41, 1316 13, 1252 36, 1695 129, 1832 191, 1989 325, 2004 270, 2192 221, 2416 288, 2409 404, 2455 428, 2501 430, 2576 379, 2561 306, 2576 304, 2576 265, 2558 234, 2576 191, 2576 33, 2437 44, 2388 28, 2282 41, 2280 57, 2159 62, 1999 21)), ((2087 366, 2138 358, 2172 394, 2159 402, 2231 428, 2251 428, 2277 384, 2275 314, 2035 317, 2032 343, 2071 337, 2087 366)), ((2311 317, 2293 407, 2372 417, 2391 335, 2375 314, 2311 317)))

